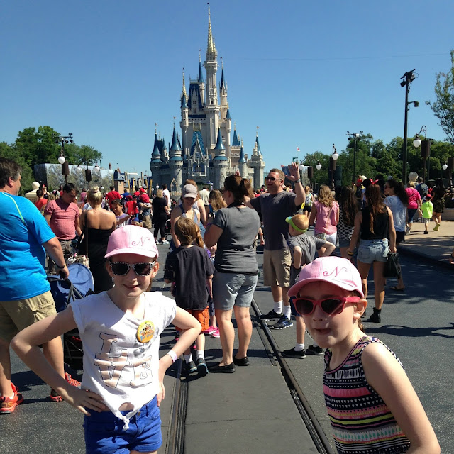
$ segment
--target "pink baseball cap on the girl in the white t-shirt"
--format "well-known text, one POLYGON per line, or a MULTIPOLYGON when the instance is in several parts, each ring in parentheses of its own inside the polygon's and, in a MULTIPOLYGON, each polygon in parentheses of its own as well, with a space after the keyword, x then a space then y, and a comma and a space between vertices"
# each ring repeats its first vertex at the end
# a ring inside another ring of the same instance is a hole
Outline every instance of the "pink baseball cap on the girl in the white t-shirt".
POLYGON ((149 258, 159 255, 153 235, 148 228, 139 226, 123 226, 111 233, 104 257, 117 254, 137 254, 149 258))

